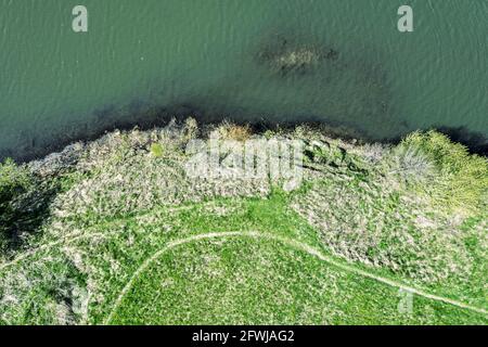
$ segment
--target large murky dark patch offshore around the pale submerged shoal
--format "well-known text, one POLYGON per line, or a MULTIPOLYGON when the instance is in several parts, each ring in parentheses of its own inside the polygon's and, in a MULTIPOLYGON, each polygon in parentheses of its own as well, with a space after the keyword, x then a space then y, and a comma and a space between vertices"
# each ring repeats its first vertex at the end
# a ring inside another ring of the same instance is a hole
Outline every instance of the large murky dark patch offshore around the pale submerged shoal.
POLYGON ((376 140, 408 130, 373 48, 358 51, 310 35, 271 33, 254 50, 257 74, 281 81, 278 88, 303 105, 293 120, 338 123, 376 140))

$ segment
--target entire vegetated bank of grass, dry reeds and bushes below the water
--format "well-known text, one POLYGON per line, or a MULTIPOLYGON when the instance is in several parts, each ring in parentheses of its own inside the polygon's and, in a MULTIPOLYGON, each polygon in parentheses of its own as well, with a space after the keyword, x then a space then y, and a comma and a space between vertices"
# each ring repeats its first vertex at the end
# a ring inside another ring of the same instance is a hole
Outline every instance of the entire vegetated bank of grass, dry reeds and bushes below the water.
POLYGON ((7 160, 0 198, 1 324, 488 322, 487 158, 435 131, 189 118, 7 160), (303 180, 189 177, 194 139, 299 141, 303 180))

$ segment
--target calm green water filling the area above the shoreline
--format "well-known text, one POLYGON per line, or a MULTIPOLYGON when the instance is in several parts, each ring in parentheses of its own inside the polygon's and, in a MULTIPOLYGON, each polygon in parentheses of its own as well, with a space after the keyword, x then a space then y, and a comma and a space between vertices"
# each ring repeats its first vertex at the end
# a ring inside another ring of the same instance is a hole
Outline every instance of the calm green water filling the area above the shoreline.
POLYGON ((169 113, 488 134, 487 0, 0 0, 0 157, 169 113), (338 59, 280 74, 282 46, 338 59))

